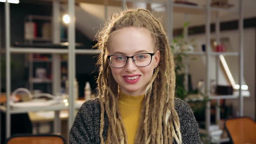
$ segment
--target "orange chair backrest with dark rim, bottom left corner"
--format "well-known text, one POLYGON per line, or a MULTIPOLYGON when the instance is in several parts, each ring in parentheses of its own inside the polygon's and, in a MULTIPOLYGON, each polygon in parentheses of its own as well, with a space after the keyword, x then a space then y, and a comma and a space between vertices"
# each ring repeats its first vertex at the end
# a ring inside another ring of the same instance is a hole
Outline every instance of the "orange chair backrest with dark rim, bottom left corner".
POLYGON ((15 134, 5 144, 66 144, 59 134, 15 134))

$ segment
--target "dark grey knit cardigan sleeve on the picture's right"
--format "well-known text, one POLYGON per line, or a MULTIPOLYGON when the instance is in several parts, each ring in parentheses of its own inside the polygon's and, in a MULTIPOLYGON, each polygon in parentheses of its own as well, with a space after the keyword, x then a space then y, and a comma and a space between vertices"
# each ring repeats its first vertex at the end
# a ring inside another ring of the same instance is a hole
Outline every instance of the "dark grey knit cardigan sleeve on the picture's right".
POLYGON ((200 144, 198 123, 190 106, 176 98, 175 109, 180 118, 182 143, 200 144))

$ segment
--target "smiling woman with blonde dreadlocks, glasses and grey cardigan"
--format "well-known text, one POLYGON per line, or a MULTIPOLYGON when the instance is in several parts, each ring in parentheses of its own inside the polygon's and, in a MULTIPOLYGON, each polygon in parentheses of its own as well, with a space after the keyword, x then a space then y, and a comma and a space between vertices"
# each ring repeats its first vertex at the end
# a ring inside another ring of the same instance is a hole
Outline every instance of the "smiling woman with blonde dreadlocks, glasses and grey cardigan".
POLYGON ((199 144, 198 124, 174 98, 175 73, 163 26, 148 10, 115 14, 98 33, 98 98, 86 101, 70 144, 199 144))

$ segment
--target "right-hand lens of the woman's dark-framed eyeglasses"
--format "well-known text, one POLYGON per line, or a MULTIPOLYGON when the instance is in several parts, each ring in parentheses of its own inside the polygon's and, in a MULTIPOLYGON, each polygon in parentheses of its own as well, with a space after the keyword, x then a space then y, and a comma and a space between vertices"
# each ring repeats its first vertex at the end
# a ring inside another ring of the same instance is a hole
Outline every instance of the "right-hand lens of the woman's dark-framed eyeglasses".
POLYGON ((147 66, 151 62, 151 55, 148 53, 140 53, 133 57, 134 62, 138 66, 147 66))

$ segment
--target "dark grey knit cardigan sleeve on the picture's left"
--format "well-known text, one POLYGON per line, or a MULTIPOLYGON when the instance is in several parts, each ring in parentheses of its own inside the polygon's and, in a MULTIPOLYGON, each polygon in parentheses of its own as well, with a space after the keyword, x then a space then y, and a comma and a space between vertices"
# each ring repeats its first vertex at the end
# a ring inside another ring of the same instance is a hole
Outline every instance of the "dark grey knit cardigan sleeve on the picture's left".
MULTIPOLYGON (((98 98, 86 101, 79 109, 69 131, 69 144, 100 144, 100 102, 98 98)), ((104 115, 103 138, 106 140, 108 119, 104 115)))

